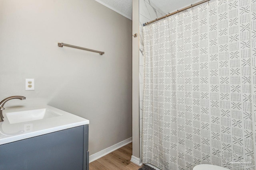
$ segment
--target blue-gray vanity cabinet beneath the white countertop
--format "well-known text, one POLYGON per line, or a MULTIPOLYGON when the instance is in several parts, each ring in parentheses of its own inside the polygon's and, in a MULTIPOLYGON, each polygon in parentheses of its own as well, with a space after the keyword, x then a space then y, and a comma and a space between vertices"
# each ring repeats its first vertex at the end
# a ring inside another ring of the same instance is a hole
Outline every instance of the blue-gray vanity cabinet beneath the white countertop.
POLYGON ((0 145, 0 170, 89 170, 88 125, 0 145))

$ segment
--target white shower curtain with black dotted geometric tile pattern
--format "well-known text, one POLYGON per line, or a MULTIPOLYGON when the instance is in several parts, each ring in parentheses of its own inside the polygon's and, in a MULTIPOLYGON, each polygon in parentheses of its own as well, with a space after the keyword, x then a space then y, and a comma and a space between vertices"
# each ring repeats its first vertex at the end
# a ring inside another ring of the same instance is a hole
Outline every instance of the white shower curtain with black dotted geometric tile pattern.
POLYGON ((143 34, 143 163, 255 169, 256 0, 216 0, 143 34))

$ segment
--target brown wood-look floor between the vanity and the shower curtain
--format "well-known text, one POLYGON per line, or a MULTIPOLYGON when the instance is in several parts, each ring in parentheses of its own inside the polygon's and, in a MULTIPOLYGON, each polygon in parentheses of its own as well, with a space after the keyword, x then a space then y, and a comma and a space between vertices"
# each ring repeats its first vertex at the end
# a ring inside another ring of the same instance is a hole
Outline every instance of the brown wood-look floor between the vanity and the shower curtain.
POLYGON ((140 166, 132 163, 132 143, 117 149, 89 164, 89 170, 138 170, 140 166))

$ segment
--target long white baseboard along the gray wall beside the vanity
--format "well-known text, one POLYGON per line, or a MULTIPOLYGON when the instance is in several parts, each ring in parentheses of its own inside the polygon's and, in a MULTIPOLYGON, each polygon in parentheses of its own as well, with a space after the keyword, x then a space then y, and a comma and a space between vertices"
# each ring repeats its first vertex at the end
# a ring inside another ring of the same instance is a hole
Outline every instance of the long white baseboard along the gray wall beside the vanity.
POLYGON ((132 137, 89 156, 89 163, 132 142, 132 137))

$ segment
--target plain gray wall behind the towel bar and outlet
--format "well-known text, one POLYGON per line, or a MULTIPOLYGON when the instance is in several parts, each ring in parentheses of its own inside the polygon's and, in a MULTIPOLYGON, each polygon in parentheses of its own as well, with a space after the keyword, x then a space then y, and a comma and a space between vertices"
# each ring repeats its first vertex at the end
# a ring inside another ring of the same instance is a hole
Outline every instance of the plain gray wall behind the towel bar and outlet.
POLYGON ((0 98, 22 95, 6 107, 48 104, 89 119, 90 154, 128 139, 131 35, 131 20, 94 0, 0 0, 0 98), (35 78, 34 91, 25 78, 35 78))

